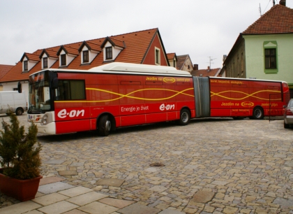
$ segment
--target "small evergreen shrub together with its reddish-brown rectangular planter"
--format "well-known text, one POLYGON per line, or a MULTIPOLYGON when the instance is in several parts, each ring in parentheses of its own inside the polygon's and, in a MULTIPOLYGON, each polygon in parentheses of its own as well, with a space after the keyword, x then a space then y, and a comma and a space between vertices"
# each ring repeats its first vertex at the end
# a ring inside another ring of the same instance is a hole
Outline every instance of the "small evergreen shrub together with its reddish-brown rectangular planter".
POLYGON ((0 136, 0 192, 20 201, 34 199, 40 183, 40 150, 36 124, 24 133, 17 116, 11 109, 7 113, 10 124, 2 121, 0 136))

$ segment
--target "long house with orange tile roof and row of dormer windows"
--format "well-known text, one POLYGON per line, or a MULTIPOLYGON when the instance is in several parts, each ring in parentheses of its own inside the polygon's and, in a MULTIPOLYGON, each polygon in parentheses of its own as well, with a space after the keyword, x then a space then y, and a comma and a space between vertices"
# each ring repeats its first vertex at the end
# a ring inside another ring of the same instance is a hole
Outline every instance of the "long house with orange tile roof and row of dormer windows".
POLYGON ((35 52, 24 52, 15 66, 0 79, 3 90, 14 90, 17 83, 28 90, 31 73, 42 69, 88 70, 110 62, 169 66, 158 28, 80 41, 35 52))

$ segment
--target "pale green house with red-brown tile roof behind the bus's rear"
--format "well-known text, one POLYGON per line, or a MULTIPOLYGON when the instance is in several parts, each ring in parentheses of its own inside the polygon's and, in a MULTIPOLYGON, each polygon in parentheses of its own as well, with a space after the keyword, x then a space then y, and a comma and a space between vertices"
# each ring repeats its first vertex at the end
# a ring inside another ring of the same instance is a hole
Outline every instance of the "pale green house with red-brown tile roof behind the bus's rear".
POLYGON ((284 80, 293 91, 293 9, 273 6, 239 34, 223 62, 225 76, 284 80))

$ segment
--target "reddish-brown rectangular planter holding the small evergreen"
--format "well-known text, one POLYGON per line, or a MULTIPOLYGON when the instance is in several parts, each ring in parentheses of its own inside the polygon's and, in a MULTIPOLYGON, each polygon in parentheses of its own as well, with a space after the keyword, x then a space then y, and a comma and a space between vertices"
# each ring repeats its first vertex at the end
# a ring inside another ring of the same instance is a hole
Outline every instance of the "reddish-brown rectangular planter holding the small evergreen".
POLYGON ((36 197, 38 185, 43 176, 27 180, 18 180, 4 176, 3 169, 0 169, 0 192, 19 201, 29 201, 36 197))

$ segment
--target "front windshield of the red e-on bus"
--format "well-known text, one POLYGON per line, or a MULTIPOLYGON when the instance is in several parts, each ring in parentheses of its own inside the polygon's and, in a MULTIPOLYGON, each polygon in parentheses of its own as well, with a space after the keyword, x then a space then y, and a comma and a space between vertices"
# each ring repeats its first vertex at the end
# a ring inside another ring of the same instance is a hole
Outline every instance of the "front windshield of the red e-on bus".
POLYGON ((52 109, 50 87, 46 71, 29 77, 29 110, 28 113, 45 113, 52 109))

